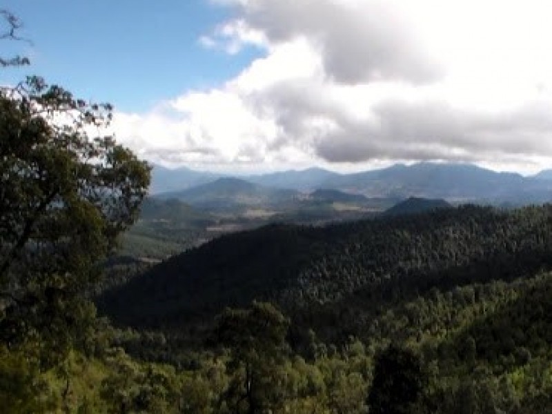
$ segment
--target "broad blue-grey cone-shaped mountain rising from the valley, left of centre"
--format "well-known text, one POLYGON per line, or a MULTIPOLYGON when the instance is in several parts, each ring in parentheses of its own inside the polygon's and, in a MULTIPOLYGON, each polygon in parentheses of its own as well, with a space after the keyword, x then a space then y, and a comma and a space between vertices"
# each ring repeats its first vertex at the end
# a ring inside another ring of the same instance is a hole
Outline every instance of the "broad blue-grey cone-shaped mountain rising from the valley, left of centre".
POLYGON ((239 206, 273 206, 299 197, 295 190, 259 186, 238 178, 219 178, 188 190, 162 193, 161 199, 175 198, 186 203, 210 209, 228 209, 239 206))

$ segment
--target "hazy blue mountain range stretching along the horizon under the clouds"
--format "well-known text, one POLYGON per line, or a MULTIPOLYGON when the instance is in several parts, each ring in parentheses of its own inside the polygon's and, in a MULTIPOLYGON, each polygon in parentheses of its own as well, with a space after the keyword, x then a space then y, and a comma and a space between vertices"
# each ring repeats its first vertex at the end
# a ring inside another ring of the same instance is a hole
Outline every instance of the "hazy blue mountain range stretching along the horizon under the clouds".
POLYGON ((293 199, 297 193, 339 190, 364 197, 424 197, 484 204, 540 204, 552 200, 552 171, 524 177, 513 172, 495 172, 471 164, 419 163, 339 174, 322 168, 289 170, 264 175, 228 177, 188 168, 168 170, 155 166, 152 195, 177 197, 193 204, 207 203, 206 191, 217 201, 242 195, 245 204, 262 204, 267 199, 293 199), (248 184, 246 184, 248 183, 248 184), (210 187, 205 187, 212 184, 210 187), (288 190, 286 193, 279 190, 288 190), (201 193, 203 195, 201 195, 201 193))

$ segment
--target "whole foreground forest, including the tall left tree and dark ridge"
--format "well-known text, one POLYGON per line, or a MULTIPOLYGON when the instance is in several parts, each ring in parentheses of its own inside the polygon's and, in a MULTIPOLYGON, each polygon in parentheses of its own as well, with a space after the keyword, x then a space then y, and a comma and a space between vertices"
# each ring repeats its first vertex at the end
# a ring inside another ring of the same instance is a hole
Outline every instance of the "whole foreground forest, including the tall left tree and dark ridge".
POLYGON ((145 201, 150 166, 88 135, 112 110, 41 77, 0 88, 2 413, 552 413, 552 205, 197 246, 212 217, 145 201), (189 219, 159 251, 186 250, 126 257, 121 237, 168 230, 138 221, 155 208, 189 219))

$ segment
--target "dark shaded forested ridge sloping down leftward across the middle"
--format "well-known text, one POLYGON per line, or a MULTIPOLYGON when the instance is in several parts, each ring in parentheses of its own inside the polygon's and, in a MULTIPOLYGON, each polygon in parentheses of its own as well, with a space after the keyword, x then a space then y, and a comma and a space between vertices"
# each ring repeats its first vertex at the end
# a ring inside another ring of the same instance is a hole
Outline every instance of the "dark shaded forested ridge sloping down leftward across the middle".
POLYGON ((269 299, 295 323, 339 339, 362 331, 362 315, 382 304, 433 287, 532 275, 550 264, 551 205, 509 212, 461 206, 226 235, 151 268, 99 303, 119 323, 181 329, 225 306, 269 299))

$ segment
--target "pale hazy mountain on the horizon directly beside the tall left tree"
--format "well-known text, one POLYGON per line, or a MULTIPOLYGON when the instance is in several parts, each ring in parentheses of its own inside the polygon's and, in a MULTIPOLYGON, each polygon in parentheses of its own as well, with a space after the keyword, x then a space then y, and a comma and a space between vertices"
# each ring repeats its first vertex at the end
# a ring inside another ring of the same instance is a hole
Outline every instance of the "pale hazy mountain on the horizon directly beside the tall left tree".
POLYGON ((176 169, 154 165, 152 168, 150 194, 165 193, 167 191, 184 190, 206 184, 219 178, 220 175, 212 172, 201 172, 181 167, 176 169))

